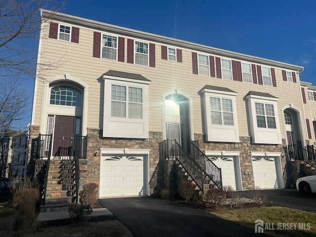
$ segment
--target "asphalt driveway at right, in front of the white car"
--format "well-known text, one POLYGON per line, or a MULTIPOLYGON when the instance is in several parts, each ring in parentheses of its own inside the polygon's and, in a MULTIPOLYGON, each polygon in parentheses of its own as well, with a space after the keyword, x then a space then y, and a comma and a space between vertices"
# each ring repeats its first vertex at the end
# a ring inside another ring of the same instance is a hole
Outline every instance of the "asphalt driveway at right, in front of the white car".
MULTIPOLYGON (((284 206, 302 211, 316 213, 316 194, 302 195, 296 189, 269 189, 261 190, 267 196, 266 204, 274 206, 284 206)), ((252 198, 250 191, 237 192, 239 197, 252 198)))

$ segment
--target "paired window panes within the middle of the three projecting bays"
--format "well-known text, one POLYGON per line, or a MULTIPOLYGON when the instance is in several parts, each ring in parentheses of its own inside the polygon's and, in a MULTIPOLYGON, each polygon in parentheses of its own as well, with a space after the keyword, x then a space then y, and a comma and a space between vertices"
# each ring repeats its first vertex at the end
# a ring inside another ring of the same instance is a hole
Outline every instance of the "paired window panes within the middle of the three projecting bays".
POLYGON ((232 99, 210 97, 211 123, 234 126, 232 99))

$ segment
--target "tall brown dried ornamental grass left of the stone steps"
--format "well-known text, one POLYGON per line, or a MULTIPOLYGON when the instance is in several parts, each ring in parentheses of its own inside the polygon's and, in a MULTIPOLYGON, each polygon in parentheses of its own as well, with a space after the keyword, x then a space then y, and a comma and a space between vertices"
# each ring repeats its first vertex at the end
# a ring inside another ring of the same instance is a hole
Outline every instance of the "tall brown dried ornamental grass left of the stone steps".
POLYGON ((39 227, 37 221, 40 204, 40 192, 35 188, 20 189, 13 195, 13 204, 17 208, 13 230, 28 232, 39 227))

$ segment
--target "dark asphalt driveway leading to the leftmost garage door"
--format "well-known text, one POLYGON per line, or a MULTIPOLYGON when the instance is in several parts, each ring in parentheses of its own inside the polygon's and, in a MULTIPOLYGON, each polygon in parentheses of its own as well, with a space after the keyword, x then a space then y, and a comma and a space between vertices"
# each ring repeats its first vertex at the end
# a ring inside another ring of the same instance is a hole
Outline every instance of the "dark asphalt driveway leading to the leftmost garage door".
POLYGON ((258 236, 254 229, 157 197, 105 198, 101 202, 135 237, 258 236))

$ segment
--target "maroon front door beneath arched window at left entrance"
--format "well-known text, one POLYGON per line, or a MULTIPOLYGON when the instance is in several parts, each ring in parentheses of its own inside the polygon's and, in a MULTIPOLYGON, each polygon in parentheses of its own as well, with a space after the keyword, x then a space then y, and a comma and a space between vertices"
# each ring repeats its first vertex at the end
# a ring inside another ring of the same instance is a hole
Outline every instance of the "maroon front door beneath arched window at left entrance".
POLYGON ((71 156, 73 147, 74 117, 56 116, 53 156, 71 156))

